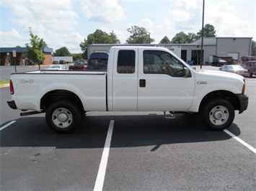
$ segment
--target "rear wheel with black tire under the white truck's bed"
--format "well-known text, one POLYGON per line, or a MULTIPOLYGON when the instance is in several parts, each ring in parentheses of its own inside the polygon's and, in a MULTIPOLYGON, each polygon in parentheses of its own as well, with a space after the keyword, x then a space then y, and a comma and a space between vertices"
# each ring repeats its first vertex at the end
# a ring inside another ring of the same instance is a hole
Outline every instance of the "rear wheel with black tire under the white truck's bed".
POLYGON ((81 111, 71 101, 58 101, 49 106, 45 120, 57 133, 71 133, 81 121, 81 111))

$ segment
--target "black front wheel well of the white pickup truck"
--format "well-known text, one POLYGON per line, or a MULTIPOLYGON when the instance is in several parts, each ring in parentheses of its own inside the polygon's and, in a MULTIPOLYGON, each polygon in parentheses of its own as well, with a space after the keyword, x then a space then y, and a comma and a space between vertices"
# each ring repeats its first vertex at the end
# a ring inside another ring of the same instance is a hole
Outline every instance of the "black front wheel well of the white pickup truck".
POLYGON ((226 90, 217 90, 217 91, 213 91, 211 93, 208 93, 203 100, 200 103, 200 108, 199 108, 199 112, 201 111, 201 108, 203 107, 204 103, 206 103, 207 101, 211 100, 211 99, 216 99, 216 98, 221 98, 224 99, 226 101, 229 101, 233 107, 234 110, 239 110, 239 100, 237 98, 237 96, 234 93, 231 93, 229 91, 226 90))

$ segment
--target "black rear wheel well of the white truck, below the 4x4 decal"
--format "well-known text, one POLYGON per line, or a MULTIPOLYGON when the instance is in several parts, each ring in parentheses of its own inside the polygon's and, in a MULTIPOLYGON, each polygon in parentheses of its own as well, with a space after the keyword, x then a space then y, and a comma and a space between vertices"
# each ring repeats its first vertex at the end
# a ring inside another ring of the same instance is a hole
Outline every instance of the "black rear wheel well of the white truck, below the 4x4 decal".
POLYGON ((43 98, 41 98, 40 108, 43 109, 43 111, 46 111, 52 103, 62 100, 72 101, 81 109, 81 111, 84 111, 84 107, 79 96, 68 90, 52 90, 46 93, 43 95, 43 98))

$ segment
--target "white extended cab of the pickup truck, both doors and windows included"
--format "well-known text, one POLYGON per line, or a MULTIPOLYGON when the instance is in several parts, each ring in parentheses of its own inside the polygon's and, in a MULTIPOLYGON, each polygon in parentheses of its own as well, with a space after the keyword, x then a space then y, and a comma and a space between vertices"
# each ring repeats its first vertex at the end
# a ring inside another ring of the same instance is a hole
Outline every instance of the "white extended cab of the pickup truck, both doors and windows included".
POLYGON ((164 48, 114 47, 107 71, 110 111, 187 111, 193 101, 192 68, 164 48))

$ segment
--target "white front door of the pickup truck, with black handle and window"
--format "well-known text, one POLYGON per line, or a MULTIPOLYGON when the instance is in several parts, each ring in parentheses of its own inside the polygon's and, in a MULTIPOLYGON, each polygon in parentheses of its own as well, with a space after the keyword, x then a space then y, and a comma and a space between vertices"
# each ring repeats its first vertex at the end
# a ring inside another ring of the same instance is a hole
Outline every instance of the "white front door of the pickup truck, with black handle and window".
POLYGON ((138 52, 138 111, 187 111, 193 102, 193 72, 166 50, 138 52))

